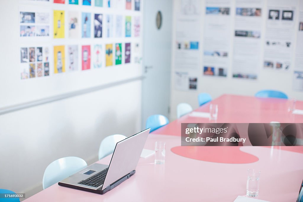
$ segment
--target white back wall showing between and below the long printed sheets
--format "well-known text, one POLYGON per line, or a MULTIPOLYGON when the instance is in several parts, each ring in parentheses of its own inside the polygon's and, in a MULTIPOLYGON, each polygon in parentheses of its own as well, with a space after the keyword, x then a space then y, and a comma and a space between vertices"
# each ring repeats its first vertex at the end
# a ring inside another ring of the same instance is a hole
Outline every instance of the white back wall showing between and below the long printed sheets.
MULTIPOLYGON (((177 0, 175 0, 176 2, 177 0)), ((233 1, 234 2, 234 1, 233 1)), ((266 11, 266 4, 263 8, 263 11, 266 11)), ((232 8, 232 12, 235 11, 235 8, 232 8)), ((174 4, 174 14, 177 12, 176 4, 174 4)), ((237 94, 237 95, 248 95, 254 96, 256 92, 263 89, 274 89, 285 92, 289 97, 295 97, 298 100, 303 100, 303 92, 293 90, 293 72, 294 68, 289 71, 275 71, 275 70, 266 70, 261 67, 261 63, 263 61, 263 55, 260 60, 260 67, 258 68, 258 79, 253 81, 249 79, 241 79, 241 78, 232 78, 232 66, 228 69, 228 75, 226 78, 218 78, 215 76, 205 76, 203 75, 202 67, 203 67, 203 26, 204 26, 204 13, 205 13, 205 1, 201 1, 201 13, 202 13, 202 24, 201 24, 201 40, 200 43, 200 55, 201 55, 201 63, 199 66, 199 74, 198 77, 198 90, 197 91, 178 91, 175 90, 175 70, 174 70, 174 51, 175 51, 175 35, 174 30, 176 27, 176 18, 174 16, 173 22, 173 43, 172 43, 172 71, 171 71, 171 120, 176 119, 176 107, 181 102, 186 102, 191 104, 191 106, 196 109, 198 108, 198 94, 201 92, 209 93, 213 99, 219 97, 222 94, 237 94)), ((298 14, 298 12, 297 12, 298 14)), ((231 14, 234 15, 234 14, 231 14)), ((232 18, 234 19, 234 18, 232 18)), ((298 19, 297 19, 298 20, 298 19)), ((298 21, 296 21, 296 25, 298 21)), ((265 22, 264 28, 265 28, 265 22)), ((231 22, 231 32, 234 32, 234 20, 231 22)), ((263 28, 263 30, 264 30, 263 28)), ((297 26, 296 26, 297 28, 297 26)), ((264 32, 263 32, 264 33, 264 32)), ((297 33, 297 31, 296 31, 297 33)), ((232 34, 230 38, 226 38, 227 40, 232 40, 232 34)), ((262 39, 263 40, 263 39, 262 39)), ((263 41, 262 41, 263 42, 263 41)), ((231 45, 230 58, 233 57, 233 46, 231 45)), ((230 60, 232 62, 232 60, 230 60)))

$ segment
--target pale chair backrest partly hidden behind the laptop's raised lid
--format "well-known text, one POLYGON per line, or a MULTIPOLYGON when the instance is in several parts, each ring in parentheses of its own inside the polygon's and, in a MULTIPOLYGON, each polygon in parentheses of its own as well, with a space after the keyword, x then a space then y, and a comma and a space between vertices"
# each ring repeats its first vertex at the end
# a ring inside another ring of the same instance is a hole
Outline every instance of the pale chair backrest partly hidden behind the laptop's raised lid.
POLYGON ((115 134, 105 137, 100 144, 98 157, 99 160, 114 152, 117 142, 124 140, 126 136, 115 134))

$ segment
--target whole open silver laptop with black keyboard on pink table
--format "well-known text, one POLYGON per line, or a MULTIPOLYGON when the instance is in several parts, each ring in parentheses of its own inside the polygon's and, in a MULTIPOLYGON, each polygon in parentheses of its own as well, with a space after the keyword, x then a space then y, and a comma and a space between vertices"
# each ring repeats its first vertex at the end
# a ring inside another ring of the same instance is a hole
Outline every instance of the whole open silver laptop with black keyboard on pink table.
POLYGON ((109 165, 92 164, 58 184, 96 194, 112 190, 135 174, 149 131, 150 128, 118 142, 109 165))

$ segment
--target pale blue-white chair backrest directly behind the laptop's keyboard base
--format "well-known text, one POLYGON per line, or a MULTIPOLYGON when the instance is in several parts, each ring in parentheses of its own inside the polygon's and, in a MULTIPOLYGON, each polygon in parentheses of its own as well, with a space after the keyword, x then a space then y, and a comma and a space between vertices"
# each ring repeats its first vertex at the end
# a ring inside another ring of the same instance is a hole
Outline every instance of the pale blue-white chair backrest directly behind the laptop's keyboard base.
POLYGON ((43 189, 81 171, 85 167, 87 167, 87 163, 82 158, 74 156, 63 157, 53 161, 44 171, 42 180, 43 189))

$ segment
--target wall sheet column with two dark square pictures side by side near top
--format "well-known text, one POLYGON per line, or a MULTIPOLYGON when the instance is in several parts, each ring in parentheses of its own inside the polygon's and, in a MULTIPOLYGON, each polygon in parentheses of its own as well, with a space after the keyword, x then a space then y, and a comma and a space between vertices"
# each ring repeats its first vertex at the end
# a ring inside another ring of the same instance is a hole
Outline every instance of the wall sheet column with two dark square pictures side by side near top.
POLYGON ((268 0, 264 44, 265 69, 288 71, 294 53, 298 0, 268 0))

